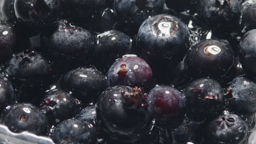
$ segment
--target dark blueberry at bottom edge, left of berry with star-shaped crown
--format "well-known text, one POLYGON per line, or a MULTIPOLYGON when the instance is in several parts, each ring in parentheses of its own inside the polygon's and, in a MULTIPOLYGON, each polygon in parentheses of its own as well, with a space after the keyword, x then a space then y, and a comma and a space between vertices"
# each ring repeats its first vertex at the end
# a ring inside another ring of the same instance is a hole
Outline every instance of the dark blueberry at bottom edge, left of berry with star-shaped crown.
POLYGON ((201 123, 196 123, 185 118, 181 125, 174 130, 173 136, 177 143, 202 143, 203 127, 201 123))

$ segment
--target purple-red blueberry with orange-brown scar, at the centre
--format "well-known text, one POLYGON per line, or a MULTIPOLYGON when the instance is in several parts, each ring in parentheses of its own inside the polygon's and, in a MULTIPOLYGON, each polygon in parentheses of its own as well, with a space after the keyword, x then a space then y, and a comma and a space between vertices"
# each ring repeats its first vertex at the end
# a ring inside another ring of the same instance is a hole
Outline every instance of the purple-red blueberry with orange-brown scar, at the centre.
POLYGON ((143 87, 147 90, 152 81, 152 70, 143 59, 128 55, 113 63, 107 77, 110 86, 143 87))

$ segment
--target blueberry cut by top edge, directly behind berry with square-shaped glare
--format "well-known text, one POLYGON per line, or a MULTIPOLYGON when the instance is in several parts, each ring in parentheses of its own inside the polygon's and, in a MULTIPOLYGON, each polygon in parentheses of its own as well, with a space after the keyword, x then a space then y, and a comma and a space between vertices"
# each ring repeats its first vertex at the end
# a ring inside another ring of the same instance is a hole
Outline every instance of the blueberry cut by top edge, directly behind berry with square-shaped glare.
POLYGON ((114 11, 121 22, 133 29, 150 16, 162 13, 163 0, 114 0, 114 11))

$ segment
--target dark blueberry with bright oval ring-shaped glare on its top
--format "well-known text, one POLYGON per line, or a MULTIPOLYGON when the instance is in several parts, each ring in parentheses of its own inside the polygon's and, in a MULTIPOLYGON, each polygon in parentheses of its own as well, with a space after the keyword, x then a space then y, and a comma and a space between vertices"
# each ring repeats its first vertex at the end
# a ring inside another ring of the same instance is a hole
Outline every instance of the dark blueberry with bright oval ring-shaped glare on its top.
POLYGON ((192 46, 185 61, 190 76, 218 79, 229 73, 234 59, 234 52, 228 41, 207 39, 192 46))

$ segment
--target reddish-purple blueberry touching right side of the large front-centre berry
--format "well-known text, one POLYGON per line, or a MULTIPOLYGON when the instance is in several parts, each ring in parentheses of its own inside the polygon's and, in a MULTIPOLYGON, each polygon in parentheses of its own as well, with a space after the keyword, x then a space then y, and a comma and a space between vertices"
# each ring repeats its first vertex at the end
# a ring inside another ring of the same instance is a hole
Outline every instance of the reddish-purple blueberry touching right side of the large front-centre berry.
POLYGON ((171 86, 156 86, 148 93, 148 109, 156 123, 169 128, 176 127, 185 115, 186 99, 171 86))

